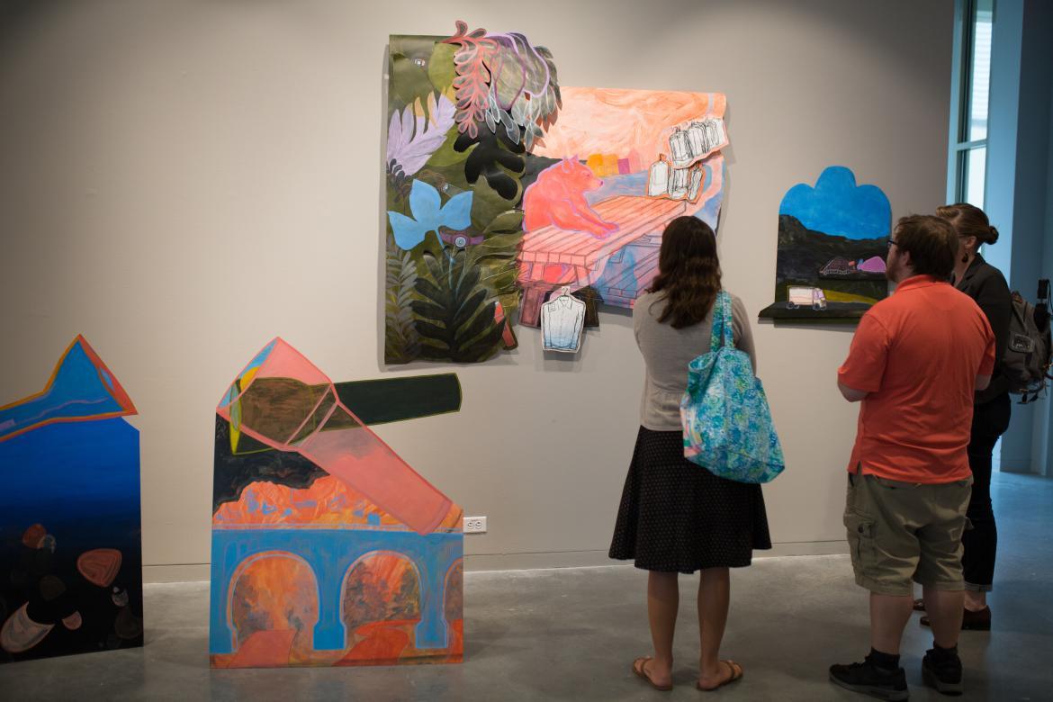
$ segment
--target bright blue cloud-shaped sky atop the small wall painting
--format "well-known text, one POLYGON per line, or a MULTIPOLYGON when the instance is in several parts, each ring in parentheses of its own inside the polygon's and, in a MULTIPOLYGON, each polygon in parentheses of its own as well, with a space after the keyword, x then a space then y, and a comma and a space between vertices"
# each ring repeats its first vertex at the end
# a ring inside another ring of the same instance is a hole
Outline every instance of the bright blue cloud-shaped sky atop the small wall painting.
POLYGON ((780 215, 792 215, 810 229, 849 239, 889 236, 892 206, 877 185, 856 185, 855 175, 840 165, 827 167, 815 187, 794 185, 779 203, 780 215))

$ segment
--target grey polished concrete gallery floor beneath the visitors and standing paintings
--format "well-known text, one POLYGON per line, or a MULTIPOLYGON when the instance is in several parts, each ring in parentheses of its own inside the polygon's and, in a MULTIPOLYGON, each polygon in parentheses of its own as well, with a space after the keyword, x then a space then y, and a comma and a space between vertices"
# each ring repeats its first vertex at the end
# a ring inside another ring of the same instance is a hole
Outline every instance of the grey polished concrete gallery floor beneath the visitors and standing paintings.
MULTIPOLYGON (((1053 480, 999 475, 994 629, 962 634, 963 700, 1053 699, 1053 480)), ((676 689, 630 673, 649 653, 645 574, 631 566, 468 573, 465 662, 367 668, 211 670, 205 583, 147 585, 146 645, 0 666, 3 700, 697 700, 695 578, 681 577, 676 689)), ((868 650, 867 595, 847 556, 760 559, 732 576, 723 655, 746 677, 721 700, 867 699, 827 680, 868 650)), ((914 700, 928 629, 908 625, 914 700)))

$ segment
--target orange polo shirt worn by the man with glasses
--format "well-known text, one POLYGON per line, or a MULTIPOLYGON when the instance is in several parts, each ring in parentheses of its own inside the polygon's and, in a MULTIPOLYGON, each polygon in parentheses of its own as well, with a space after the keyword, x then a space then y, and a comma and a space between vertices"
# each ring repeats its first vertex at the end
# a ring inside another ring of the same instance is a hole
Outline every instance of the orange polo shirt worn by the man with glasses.
POLYGON ((976 376, 994 370, 994 334, 966 294, 914 276, 871 307, 837 379, 870 393, 849 470, 912 483, 971 475, 966 447, 976 376))

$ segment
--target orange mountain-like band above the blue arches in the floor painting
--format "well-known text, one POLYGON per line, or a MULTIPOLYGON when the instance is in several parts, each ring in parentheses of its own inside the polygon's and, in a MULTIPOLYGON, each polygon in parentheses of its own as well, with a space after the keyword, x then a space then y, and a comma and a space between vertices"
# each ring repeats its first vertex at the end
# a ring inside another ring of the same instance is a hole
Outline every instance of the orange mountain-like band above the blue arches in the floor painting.
MULTIPOLYGON (((322 476, 303 489, 263 481, 250 483, 237 502, 226 502, 216 510, 212 523, 214 526, 313 524, 336 527, 366 525, 372 514, 379 517, 382 526, 402 526, 340 479, 322 476)), ((459 528, 462 514, 460 507, 452 505, 438 528, 459 528)))

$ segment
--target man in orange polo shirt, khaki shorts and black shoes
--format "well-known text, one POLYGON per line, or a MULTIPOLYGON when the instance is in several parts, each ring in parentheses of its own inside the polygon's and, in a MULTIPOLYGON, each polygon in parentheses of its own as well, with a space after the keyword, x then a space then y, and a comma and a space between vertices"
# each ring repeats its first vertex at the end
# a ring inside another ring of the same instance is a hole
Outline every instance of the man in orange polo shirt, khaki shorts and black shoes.
POLYGON ((958 241, 937 217, 899 220, 889 240, 896 292, 859 321, 837 385, 862 401, 845 507, 856 582, 870 590, 871 653, 833 665, 830 679, 886 700, 906 700, 899 642, 922 585, 933 647, 926 684, 961 691, 958 633, 965 581, 961 533, 972 488, 966 447, 973 393, 994 369, 994 335, 967 295, 947 282, 958 241))

